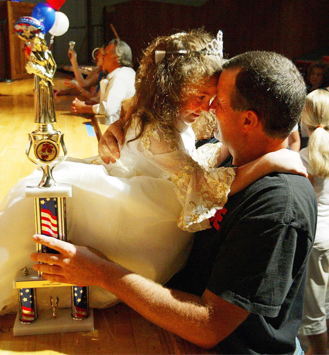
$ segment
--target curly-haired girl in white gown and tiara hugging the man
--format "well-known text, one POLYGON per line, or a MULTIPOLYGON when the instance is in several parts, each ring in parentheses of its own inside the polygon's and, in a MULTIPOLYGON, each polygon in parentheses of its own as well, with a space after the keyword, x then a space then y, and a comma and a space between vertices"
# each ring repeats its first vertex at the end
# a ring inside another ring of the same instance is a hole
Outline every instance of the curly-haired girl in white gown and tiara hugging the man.
MULTIPOLYGON (((103 163, 108 172, 103 164, 80 160, 60 163, 53 171, 57 183, 72 184, 73 197, 67 199, 68 239, 102 249, 111 260, 161 283, 182 267, 192 242, 190 232, 210 226, 208 218, 223 206, 230 189, 241 190, 278 170, 275 162, 284 160, 279 152, 236 170, 213 168, 226 154, 220 144, 203 148, 201 165, 191 158, 198 152, 194 152, 190 125, 209 111, 221 67, 221 57, 214 54, 221 52, 222 43, 213 40, 202 30, 192 30, 152 42, 141 61, 135 112, 126 126, 121 159, 103 163), (155 57, 155 51, 166 52, 155 57), (239 176, 235 179, 235 175, 239 176)), ((93 160, 102 162, 99 157, 87 159, 93 160)), ((30 243, 34 210, 24 190, 40 179, 40 171, 26 177, 1 208, 5 277, 0 308, 7 305, 4 311, 17 303, 12 289, 17 268, 32 264, 26 265, 35 248, 30 243)), ((49 295, 59 297, 60 307, 70 306, 70 294, 64 289, 38 290, 39 307, 48 306, 49 295)), ((115 300, 104 290, 90 288, 91 307, 105 307, 115 300)))

